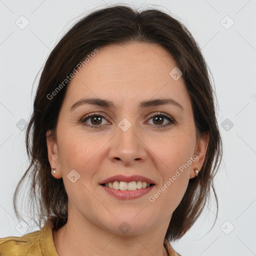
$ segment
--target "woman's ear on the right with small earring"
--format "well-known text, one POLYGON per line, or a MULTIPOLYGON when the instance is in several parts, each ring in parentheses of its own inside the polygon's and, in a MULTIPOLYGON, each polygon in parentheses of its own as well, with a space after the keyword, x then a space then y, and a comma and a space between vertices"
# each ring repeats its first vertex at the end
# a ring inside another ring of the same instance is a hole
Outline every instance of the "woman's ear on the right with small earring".
POLYGON ((209 138, 210 138, 209 132, 205 132, 201 134, 201 137, 198 138, 195 145, 194 155, 193 155, 193 158, 195 160, 191 165, 192 168, 190 169, 189 178, 195 177, 194 169, 197 169, 198 171, 200 171, 204 162, 207 148, 208 148, 209 138))

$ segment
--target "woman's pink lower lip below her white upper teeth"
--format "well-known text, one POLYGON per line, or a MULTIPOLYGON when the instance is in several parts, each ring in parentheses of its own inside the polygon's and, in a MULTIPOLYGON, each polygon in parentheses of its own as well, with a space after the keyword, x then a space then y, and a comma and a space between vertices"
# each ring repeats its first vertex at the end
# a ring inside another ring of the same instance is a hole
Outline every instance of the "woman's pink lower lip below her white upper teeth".
POLYGON ((154 185, 145 187, 145 188, 140 188, 136 190, 117 190, 113 188, 109 188, 103 185, 100 185, 106 192, 109 194, 113 195, 114 197, 118 199, 135 199, 138 198, 146 193, 148 193, 154 185))

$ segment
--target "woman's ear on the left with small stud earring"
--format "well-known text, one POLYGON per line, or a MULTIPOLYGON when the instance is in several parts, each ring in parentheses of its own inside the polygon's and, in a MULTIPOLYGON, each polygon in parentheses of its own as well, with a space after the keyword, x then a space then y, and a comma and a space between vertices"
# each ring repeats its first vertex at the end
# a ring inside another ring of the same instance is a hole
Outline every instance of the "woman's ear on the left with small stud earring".
POLYGON ((48 150, 48 160, 50 163, 51 168, 56 168, 56 173, 53 173, 51 170, 51 174, 55 178, 61 178, 61 164, 59 164, 58 161, 58 147, 57 147, 57 141, 54 138, 52 134, 52 130, 46 131, 46 144, 47 144, 47 150, 48 150))

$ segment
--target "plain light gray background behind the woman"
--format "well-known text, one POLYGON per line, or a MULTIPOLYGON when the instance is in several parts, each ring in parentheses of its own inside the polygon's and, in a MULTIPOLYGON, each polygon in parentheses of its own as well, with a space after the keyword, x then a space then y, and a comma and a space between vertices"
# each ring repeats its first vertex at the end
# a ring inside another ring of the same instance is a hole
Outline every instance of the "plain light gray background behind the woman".
MULTIPOLYGON (((117 1, 0 0, 0 237, 38 229, 22 229, 12 206, 14 188, 28 164, 20 129, 32 111, 35 75, 61 35, 84 12, 111 3, 117 1), (29 21, 23 29, 21 15, 29 21)), ((223 138, 223 162, 215 180, 219 214, 210 230, 216 212, 212 201, 173 247, 183 256, 256 255, 256 0, 125 3, 160 5, 183 22, 199 43, 215 82, 223 138)))

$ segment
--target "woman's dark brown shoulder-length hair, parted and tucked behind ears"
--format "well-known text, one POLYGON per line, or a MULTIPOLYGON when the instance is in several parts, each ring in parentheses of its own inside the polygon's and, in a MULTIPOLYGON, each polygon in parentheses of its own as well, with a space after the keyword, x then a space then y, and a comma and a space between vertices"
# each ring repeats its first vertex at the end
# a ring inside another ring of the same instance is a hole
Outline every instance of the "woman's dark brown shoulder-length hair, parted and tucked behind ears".
MULTIPOLYGON (((209 142, 198 177, 189 179, 187 189, 174 210, 165 238, 179 239, 201 214, 210 196, 210 187, 218 202, 213 177, 222 158, 222 142, 215 116, 213 89, 208 67, 200 49, 187 28, 169 14, 154 8, 138 11, 126 5, 113 5, 94 10, 69 29, 48 56, 40 75, 33 104, 33 113, 26 129, 26 151, 30 164, 19 180, 13 195, 17 211, 17 195, 25 177, 30 177, 29 205, 39 207, 34 216, 41 221, 54 220, 58 229, 67 220, 67 194, 62 178, 51 175, 46 146, 46 131, 53 130, 63 101, 66 86, 54 97, 49 95, 63 82, 78 63, 95 48, 111 43, 141 41, 157 43, 174 57, 189 93, 196 134, 209 132, 209 142), (38 193, 38 195, 37 195, 38 193)), ((63 84, 63 83, 62 83, 63 84)), ((22 218, 23 219, 23 218, 22 218)), ((215 219, 216 221, 216 219, 215 219)), ((215 222, 214 222, 215 223, 215 222)), ((213 224, 214 225, 214 224, 213 224)))

